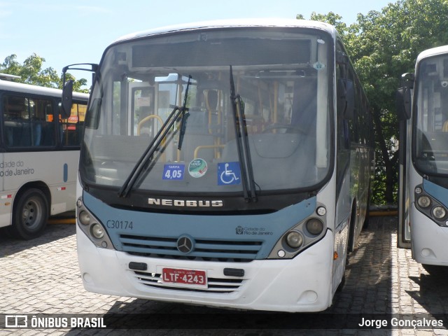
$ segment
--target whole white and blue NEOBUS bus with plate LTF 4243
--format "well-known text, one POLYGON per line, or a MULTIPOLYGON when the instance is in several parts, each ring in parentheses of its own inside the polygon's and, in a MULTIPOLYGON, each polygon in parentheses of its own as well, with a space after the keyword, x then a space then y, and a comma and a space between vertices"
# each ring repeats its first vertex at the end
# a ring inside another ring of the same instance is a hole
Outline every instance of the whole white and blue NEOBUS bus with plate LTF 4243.
POLYGON ((334 27, 167 27, 121 38, 90 71, 76 226, 87 290, 330 306, 374 159, 367 99, 334 27))

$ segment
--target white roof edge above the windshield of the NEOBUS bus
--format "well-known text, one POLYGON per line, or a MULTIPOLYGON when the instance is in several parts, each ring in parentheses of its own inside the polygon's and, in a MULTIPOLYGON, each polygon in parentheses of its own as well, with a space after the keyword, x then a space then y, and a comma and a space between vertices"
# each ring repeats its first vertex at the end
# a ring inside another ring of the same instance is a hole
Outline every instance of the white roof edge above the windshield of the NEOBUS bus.
POLYGON ((323 29, 328 32, 336 31, 332 25, 312 20, 298 20, 288 18, 248 18, 248 19, 232 19, 232 20, 210 20, 202 22, 183 23, 179 25, 169 25, 137 31, 125 36, 117 38, 113 43, 126 41, 133 38, 169 33, 172 31, 184 31, 204 28, 225 28, 225 27, 306 27, 323 29))

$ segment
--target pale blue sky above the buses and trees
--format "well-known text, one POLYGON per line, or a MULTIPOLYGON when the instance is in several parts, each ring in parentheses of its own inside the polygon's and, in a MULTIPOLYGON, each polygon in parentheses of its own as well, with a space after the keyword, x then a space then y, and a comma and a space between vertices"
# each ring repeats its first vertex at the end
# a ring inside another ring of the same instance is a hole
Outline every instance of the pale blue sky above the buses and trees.
POLYGON ((395 0, 0 0, 0 64, 13 54, 23 64, 35 53, 43 69, 61 73, 68 64, 98 63, 110 43, 135 31, 231 18, 309 19, 313 12, 339 14, 351 25, 358 13, 388 3, 395 0))

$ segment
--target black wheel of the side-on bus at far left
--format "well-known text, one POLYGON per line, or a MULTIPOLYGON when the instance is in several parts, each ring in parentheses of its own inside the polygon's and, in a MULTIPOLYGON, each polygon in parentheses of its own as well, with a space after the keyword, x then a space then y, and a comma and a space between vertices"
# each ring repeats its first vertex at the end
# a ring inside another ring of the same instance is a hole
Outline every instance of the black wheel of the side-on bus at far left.
POLYGON ((48 200, 41 190, 31 188, 20 193, 13 208, 14 237, 33 239, 41 235, 48 221, 48 200))

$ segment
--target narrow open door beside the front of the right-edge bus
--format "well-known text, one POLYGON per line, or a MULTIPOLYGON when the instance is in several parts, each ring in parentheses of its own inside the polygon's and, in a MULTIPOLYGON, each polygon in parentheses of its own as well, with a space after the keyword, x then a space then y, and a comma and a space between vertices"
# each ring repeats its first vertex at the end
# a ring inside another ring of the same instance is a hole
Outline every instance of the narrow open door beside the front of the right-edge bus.
POLYGON ((397 92, 397 110, 399 120, 399 158, 398 158, 398 237, 400 248, 411 248, 411 223, 409 222, 409 165, 411 155, 411 106, 412 106, 412 74, 402 76, 403 87, 397 92))

